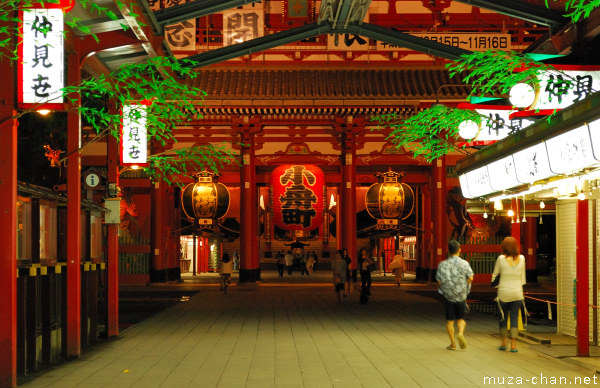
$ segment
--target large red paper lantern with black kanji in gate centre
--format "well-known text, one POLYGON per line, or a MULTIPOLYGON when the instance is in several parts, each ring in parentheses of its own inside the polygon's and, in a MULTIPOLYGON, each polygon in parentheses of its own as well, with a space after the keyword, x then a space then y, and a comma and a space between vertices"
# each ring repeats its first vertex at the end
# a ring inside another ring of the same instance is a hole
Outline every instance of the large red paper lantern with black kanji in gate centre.
POLYGON ((283 165, 271 173, 273 223, 285 230, 312 230, 323 223, 325 175, 313 165, 283 165))

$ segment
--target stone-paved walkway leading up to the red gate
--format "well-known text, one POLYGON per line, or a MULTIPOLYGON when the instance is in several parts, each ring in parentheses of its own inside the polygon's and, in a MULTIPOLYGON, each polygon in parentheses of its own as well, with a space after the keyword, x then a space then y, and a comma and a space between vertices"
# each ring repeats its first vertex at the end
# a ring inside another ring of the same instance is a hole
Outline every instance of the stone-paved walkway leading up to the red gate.
POLYGON ((422 285, 376 281, 361 305, 358 293, 338 303, 333 287, 316 281, 328 274, 265 278, 257 287, 232 284, 226 295, 216 277, 164 285, 198 292, 24 386, 538 387, 553 378, 586 386, 576 384, 586 377, 600 386, 597 358, 564 360, 525 342, 518 353, 498 351, 488 314, 470 314, 465 350, 446 350, 443 306, 412 292, 422 285))

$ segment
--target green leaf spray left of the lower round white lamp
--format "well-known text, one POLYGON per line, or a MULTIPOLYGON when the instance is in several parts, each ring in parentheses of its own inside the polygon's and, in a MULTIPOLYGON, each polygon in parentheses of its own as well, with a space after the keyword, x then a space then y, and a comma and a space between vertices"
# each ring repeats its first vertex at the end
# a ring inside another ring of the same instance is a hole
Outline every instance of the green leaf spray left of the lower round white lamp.
POLYGON ((396 147, 404 147, 415 157, 431 162, 458 148, 455 142, 460 123, 472 120, 479 124, 483 117, 470 110, 434 105, 408 119, 392 113, 371 120, 379 124, 377 130, 391 130, 386 139, 396 147))

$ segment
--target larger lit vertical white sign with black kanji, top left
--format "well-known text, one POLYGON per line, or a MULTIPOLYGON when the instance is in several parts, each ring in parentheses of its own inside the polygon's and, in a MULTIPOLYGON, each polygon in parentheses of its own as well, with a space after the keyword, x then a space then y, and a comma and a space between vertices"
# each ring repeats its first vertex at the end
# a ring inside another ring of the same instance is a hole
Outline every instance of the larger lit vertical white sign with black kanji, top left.
POLYGON ((32 8, 21 14, 19 105, 60 108, 65 86, 63 10, 32 8))

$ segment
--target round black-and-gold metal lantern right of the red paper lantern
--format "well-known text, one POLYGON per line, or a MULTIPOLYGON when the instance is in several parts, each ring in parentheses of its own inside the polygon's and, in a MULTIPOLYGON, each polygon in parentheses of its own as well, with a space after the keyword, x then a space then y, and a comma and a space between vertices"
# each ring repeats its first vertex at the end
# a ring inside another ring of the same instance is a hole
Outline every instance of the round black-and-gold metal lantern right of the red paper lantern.
POLYGON ((377 218, 378 224, 398 225, 398 220, 408 218, 413 212, 413 189, 401 182, 404 173, 389 170, 375 176, 379 182, 371 185, 365 196, 367 212, 377 218))

